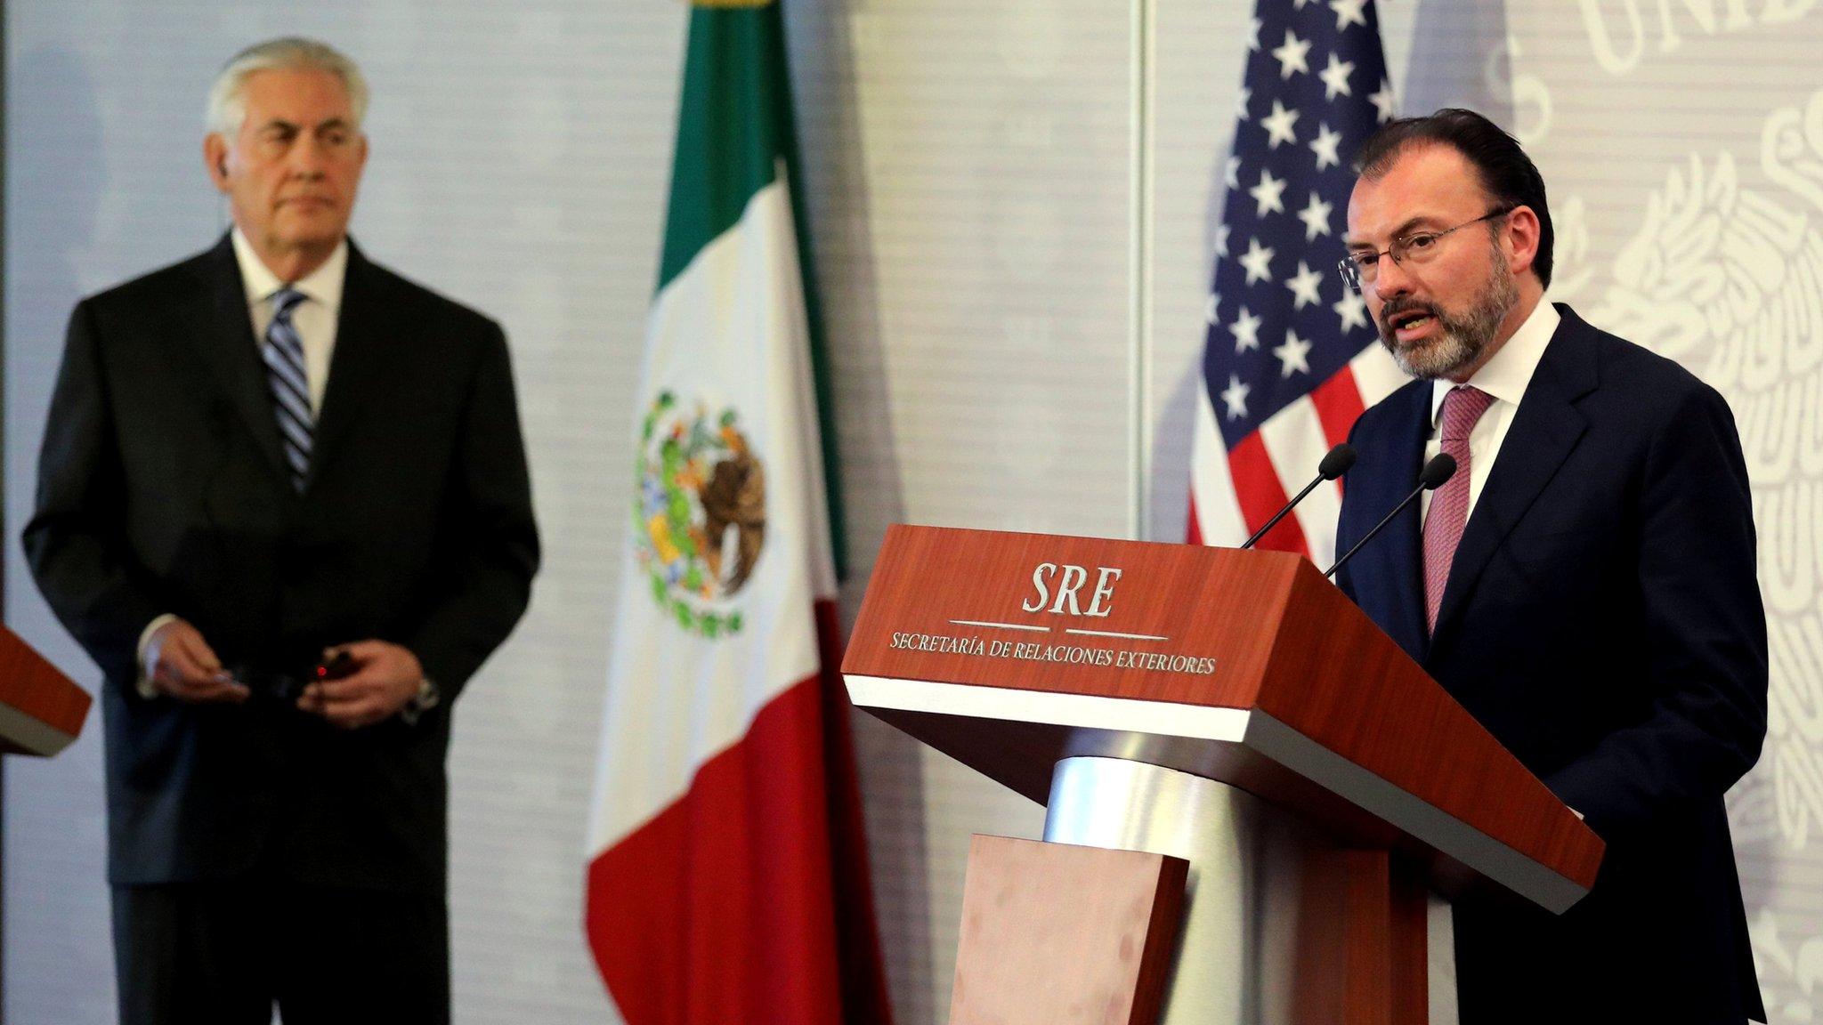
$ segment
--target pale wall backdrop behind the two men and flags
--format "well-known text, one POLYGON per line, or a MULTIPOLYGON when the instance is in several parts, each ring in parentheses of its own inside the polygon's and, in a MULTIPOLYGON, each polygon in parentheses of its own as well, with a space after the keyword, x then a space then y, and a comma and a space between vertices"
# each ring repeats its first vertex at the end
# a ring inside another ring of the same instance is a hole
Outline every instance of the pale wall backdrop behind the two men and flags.
MULTIPOLYGON (((1216 171, 1252 2, 1132 4, 788 0, 850 613, 897 520, 1181 536, 1216 171)), ((1735 843, 1768 1007, 1810 1021, 1823 13, 1385 0, 1380 16, 1407 111, 1471 102, 1533 150, 1559 221, 1553 295, 1734 403, 1774 642, 1772 735, 1734 793, 1735 843)), ((199 142, 232 51, 301 31, 361 60, 376 100, 357 237, 509 328, 549 558, 458 715, 459 1021, 616 1020, 582 943, 580 863, 684 18, 673 0, 5 5, 5 616, 77 678, 97 684, 16 544, 62 321, 82 294, 222 230, 199 142)), ((968 833, 1035 835, 1041 812, 857 728, 899 1020, 939 1023, 968 833)), ((5 1020, 111 1021, 97 722, 53 762, 9 761, 4 854, 5 1020)))

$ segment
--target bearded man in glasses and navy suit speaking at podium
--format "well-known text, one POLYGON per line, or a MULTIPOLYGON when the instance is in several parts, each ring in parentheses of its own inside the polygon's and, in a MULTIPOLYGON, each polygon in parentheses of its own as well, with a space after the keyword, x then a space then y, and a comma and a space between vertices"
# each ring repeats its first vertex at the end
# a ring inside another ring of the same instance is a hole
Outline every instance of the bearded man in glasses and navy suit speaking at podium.
POLYGON ((1723 793, 1766 730, 1766 627, 1728 405, 1542 301, 1544 182, 1471 111, 1356 162, 1344 277, 1418 378, 1362 414, 1338 584, 1608 843, 1560 917, 1457 905, 1464 1025, 1765 1020, 1723 793))

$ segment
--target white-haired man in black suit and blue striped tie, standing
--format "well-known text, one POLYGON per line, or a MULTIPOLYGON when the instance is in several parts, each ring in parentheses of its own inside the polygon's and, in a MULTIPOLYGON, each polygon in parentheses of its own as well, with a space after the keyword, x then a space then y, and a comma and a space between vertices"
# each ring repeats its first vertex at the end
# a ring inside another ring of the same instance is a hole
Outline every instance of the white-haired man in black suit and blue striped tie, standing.
POLYGON ((233 230, 69 319, 24 542, 106 675, 128 1023, 448 1020, 448 709, 538 533, 500 326, 346 237, 365 106, 235 57, 233 230))

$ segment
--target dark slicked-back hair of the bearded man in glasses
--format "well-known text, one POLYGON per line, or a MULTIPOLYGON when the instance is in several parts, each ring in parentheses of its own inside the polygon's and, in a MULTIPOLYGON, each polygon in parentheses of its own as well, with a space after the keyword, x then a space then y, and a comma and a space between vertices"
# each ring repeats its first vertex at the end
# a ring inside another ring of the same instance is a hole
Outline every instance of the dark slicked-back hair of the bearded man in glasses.
POLYGON ((1402 117, 1384 124, 1354 155, 1354 173, 1378 179, 1413 146, 1442 144, 1462 153, 1480 173, 1482 188, 1499 206, 1529 206, 1539 215, 1539 255, 1531 268, 1551 283, 1551 208, 1544 202, 1544 177, 1531 157, 1499 124, 1462 108, 1444 108, 1429 117, 1402 117))

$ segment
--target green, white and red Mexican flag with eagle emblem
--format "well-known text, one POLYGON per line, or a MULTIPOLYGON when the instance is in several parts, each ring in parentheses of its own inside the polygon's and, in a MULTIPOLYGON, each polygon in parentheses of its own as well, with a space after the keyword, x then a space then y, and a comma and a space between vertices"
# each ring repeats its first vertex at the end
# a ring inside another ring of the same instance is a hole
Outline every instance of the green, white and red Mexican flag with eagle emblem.
POLYGON ((778 5, 698 2, 589 828, 629 1025, 890 1021, 795 170, 778 5))

